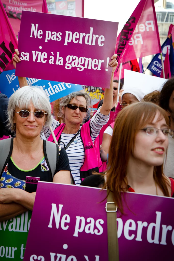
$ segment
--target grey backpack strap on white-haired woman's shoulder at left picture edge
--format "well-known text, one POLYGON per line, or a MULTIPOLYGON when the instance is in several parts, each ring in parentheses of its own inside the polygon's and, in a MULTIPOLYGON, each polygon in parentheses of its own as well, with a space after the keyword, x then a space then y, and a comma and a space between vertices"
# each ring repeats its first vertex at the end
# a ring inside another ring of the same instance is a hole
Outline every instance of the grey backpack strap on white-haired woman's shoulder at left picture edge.
POLYGON ((5 166, 7 165, 7 162, 9 161, 12 150, 13 150, 13 138, 4 139, 0 141, 0 151, 1 151, 0 177, 2 176, 2 173, 4 171, 5 166))

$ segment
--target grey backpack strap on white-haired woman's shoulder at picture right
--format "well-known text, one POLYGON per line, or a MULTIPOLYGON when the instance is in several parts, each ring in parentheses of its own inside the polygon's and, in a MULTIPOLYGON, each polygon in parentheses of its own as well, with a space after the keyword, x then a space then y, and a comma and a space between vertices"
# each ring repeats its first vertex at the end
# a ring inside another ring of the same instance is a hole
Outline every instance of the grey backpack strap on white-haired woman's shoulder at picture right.
POLYGON ((49 169, 51 170, 52 179, 58 164, 59 149, 58 145, 50 141, 44 140, 44 155, 49 169))

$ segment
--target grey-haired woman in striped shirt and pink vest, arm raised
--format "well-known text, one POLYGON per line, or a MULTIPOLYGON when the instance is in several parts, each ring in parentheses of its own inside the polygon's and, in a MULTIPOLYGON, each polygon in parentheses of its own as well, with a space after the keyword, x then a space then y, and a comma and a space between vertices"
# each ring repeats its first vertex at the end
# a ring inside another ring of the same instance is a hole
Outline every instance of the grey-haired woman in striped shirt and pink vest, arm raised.
MULTIPOLYGON (((63 97, 60 102, 59 116, 63 115, 65 123, 60 124, 56 121, 53 129, 58 143, 61 146, 64 144, 76 185, 80 185, 93 171, 102 171, 99 132, 109 120, 112 108, 113 75, 118 65, 116 57, 114 54, 109 63, 113 68, 110 88, 105 89, 103 105, 91 120, 81 126, 91 101, 87 93, 73 92, 63 97)), ((54 142, 49 130, 45 135, 49 141, 54 142)))

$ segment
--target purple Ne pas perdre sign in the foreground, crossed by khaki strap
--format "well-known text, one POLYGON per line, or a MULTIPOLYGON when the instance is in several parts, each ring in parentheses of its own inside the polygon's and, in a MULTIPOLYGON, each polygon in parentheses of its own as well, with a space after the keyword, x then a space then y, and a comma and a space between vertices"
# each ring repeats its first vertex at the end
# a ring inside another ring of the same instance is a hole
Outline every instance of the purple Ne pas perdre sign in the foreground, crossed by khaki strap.
MULTIPOLYGON (((39 181, 24 261, 108 261, 105 197, 98 188, 39 181)), ((174 199, 131 192, 125 199, 119 260, 170 260, 174 199)))

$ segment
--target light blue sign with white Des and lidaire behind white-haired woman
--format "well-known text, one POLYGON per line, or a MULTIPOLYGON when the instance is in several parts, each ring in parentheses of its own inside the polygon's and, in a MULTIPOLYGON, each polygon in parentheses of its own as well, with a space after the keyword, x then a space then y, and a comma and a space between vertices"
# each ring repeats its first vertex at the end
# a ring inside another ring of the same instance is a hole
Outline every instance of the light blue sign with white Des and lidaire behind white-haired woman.
MULTIPOLYGON (((29 86, 42 88, 50 98, 50 102, 62 98, 71 92, 83 89, 79 84, 66 82, 46 81, 34 78, 27 78, 27 82, 29 86)), ((19 89, 19 81, 17 76, 15 76, 15 69, 2 72, 0 74, 0 92, 9 98, 17 89, 19 89)))

